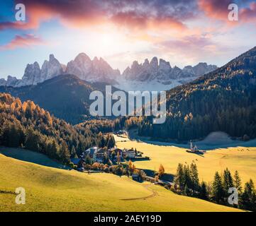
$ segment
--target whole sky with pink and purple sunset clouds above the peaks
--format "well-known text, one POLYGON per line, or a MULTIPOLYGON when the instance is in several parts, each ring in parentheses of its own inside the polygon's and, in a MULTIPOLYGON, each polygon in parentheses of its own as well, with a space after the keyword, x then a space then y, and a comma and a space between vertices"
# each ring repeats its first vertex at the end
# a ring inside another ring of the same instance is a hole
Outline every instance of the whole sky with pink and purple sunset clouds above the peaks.
POLYGON ((152 57, 183 68, 223 66, 256 46, 256 1, 1 0, 0 78, 21 78, 27 64, 50 54, 62 64, 80 52, 103 57, 121 72, 152 57), (26 21, 16 20, 16 4, 26 21), (228 6, 238 20, 228 20, 228 6))

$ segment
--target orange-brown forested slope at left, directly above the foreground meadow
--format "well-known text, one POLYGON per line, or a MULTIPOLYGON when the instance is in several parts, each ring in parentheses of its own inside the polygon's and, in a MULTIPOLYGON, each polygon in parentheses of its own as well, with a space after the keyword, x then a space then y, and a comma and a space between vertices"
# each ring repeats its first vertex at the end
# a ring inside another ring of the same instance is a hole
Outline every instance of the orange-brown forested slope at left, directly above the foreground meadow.
POLYGON ((35 150, 66 163, 91 145, 104 147, 113 143, 112 136, 87 128, 79 131, 30 100, 21 102, 0 93, 0 145, 35 150))

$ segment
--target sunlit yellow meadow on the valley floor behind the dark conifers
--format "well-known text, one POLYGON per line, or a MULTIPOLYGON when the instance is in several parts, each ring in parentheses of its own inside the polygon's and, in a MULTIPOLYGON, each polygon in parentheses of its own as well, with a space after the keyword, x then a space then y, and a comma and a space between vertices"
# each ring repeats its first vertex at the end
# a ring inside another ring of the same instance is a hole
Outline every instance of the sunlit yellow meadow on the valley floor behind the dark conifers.
POLYGON ((205 182, 211 182, 216 171, 223 172, 228 167, 231 173, 238 170, 243 183, 250 178, 256 183, 256 148, 222 148, 210 150, 201 156, 187 153, 185 148, 130 141, 118 136, 115 139, 118 148, 137 148, 151 158, 149 161, 135 162, 135 166, 141 169, 158 170, 162 164, 166 172, 175 174, 179 162, 191 164, 194 161, 199 169, 199 178, 205 182))

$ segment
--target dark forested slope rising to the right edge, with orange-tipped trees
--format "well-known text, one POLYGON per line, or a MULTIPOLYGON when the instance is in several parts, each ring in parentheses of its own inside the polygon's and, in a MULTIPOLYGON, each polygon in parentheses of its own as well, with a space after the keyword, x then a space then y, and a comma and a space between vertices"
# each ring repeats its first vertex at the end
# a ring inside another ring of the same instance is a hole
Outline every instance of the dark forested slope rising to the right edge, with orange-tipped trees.
POLYGON ((196 81, 167 91, 165 124, 138 122, 139 134, 167 140, 204 138, 224 131, 256 137, 256 47, 196 81))

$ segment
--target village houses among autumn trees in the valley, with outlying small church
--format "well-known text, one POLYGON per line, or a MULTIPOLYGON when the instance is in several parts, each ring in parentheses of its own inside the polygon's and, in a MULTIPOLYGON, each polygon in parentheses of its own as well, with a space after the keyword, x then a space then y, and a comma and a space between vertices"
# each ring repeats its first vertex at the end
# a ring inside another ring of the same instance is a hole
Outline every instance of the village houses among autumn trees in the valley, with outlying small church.
MULTIPOLYGON (((116 136, 125 138, 128 136, 127 131, 116 131, 116 136)), ((204 150, 199 150, 199 148, 190 141, 190 148, 187 150, 188 153, 194 153, 197 155, 204 155, 204 150)), ((150 160, 150 157, 143 156, 141 151, 136 148, 99 148, 91 147, 84 150, 82 155, 77 158, 71 159, 71 165, 73 169, 77 169, 79 172, 87 173, 98 173, 107 172, 117 174, 119 176, 126 175, 131 176, 133 180, 137 182, 142 182, 147 180, 150 182, 157 182, 161 185, 171 186, 172 179, 161 179, 158 177, 159 172, 145 173, 143 169, 136 169, 133 162, 138 160, 150 160), (156 179, 158 178, 158 179, 156 179)), ((161 166, 160 166, 161 167, 161 166)), ((165 171, 165 169, 163 169, 165 171)), ((164 172, 162 174, 165 174, 164 172)), ((162 176, 162 175, 160 175, 162 176)), ((167 176, 167 174, 165 174, 167 176)))

